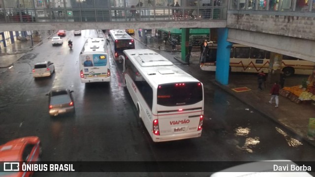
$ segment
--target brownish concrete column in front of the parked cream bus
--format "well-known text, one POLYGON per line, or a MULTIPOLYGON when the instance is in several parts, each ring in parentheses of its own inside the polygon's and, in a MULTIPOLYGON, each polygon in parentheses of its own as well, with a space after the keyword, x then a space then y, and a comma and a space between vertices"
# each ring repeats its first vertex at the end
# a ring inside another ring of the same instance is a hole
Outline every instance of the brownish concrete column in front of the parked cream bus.
POLYGON ((269 84, 274 84, 276 81, 280 80, 281 64, 283 55, 270 52, 269 69, 267 82, 269 84))

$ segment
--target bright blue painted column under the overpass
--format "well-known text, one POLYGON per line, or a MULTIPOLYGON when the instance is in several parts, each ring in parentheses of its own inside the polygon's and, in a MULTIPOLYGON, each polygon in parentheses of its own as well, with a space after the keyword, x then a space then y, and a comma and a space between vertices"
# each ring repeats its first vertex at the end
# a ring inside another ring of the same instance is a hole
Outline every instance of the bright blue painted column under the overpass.
POLYGON ((232 47, 232 43, 226 40, 227 34, 227 28, 218 29, 216 81, 222 85, 228 85, 230 50, 232 47))

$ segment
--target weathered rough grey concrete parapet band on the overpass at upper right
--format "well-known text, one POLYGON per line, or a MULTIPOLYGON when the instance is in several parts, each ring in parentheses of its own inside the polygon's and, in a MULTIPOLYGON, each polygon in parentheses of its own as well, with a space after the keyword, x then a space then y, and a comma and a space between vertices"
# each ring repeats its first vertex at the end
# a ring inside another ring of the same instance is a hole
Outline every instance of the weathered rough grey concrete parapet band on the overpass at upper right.
POLYGON ((227 28, 315 40, 315 17, 228 13, 227 28))

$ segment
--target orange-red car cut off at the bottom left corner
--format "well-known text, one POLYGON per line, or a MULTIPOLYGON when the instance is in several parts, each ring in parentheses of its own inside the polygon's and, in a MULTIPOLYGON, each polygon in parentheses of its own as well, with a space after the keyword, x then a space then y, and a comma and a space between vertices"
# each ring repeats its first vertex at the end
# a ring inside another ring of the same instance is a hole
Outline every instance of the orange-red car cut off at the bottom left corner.
MULTIPOLYGON (((38 137, 30 136, 18 138, 0 146, 0 171, 4 169, 3 162, 27 162, 36 163, 42 152, 40 140, 38 137)), ((0 172, 1 177, 31 177, 33 172, 0 172)))

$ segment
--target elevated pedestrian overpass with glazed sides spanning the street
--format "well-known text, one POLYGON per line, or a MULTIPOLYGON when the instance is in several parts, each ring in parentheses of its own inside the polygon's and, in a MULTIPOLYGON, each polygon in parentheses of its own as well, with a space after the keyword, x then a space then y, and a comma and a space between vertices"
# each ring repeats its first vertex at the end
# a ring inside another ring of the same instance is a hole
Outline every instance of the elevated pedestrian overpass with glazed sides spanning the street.
POLYGON ((179 0, 179 6, 173 2, 0 0, 0 31, 218 28, 222 49, 234 42, 315 62, 315 1, 179 0))

